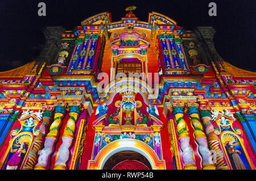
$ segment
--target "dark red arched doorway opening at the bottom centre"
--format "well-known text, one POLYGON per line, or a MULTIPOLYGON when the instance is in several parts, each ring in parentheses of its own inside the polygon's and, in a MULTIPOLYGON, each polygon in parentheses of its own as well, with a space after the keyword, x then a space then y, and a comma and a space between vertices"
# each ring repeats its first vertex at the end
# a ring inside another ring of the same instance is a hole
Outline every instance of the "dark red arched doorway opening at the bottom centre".
POLYGON ((136 151, 120 151, 112 155, 103 170, 151 170, 150 162, 136 151))

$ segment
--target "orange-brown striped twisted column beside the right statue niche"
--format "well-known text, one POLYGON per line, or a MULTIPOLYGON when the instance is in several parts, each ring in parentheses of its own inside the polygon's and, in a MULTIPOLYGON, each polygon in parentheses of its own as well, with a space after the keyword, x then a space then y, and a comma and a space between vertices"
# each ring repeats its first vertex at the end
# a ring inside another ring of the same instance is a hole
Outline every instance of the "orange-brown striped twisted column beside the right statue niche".
POLYGON ((200 117, 204 124, 205 133, 207 134, 207 140, 209 144, 209 149, 213 150, 214 156, 216 157, 216 167, 218 170, 229 170, 228 165, 226 165, 224 155, 220 148, 220 142, 218 141, 218 136, 214 133, 214 128, 212 123, 210 123, 210 111, 206 108, 200 107, 200 117))

